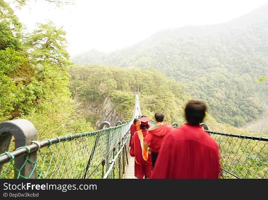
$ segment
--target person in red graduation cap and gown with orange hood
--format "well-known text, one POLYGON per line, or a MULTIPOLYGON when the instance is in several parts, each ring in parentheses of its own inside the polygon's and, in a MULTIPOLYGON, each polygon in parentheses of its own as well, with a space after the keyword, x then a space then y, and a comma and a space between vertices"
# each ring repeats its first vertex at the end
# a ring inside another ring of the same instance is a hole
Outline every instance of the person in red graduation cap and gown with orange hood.
POLYGON ((134 133, 131 140, 131 148, 129 149, 129 153, 131 156, 135 156, 135 177, 150 178, 152 174, 151 155, 147 153, 143 146, 143 141, 149 127, 148 121, 150 119, 143 117, 138 120, 141 121, 141 129, 134 133))

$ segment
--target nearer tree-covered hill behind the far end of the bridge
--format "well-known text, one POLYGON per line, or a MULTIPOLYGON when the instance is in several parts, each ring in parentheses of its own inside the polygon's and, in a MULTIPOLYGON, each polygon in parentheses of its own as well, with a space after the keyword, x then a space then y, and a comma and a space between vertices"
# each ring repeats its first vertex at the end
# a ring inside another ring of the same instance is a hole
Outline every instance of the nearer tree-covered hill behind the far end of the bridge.
MULTIPOLYGON (((153 119, 155 112, 162 111, 165 113, 165 121, 170 124, 176 122, 180 126, 186 122, 184 107, 190 99, 189 93, 185 92, 187 86, 155 69, 122 69, 74 64, 69 66, 69 73, 72 96, 78 96, 81 115, 92 124, 100 118, 100 112, 89 112, 89 105, 98 104, 103 107, 106 98, 115 103, 112 109, 116 111, 116 115, 121 116, 123 120, 132 118, 136 92, 139 92, 143 115, 153 119)), ((204 122, 210 130, 250 134, 243 129, 217 123, 210 114, 206 114, 204 122)), ((263 135, 256 132, 254 134, 263 135)))

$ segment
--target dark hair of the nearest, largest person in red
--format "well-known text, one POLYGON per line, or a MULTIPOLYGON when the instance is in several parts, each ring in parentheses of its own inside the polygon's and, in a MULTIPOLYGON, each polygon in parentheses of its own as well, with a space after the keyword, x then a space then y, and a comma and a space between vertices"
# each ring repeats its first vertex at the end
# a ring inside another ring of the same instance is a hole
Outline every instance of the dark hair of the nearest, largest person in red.
POLYGON ((199 125, 205 117, 206 105, 200 100, 192 99, 187 103, 184 111, 189 124, 199 125))

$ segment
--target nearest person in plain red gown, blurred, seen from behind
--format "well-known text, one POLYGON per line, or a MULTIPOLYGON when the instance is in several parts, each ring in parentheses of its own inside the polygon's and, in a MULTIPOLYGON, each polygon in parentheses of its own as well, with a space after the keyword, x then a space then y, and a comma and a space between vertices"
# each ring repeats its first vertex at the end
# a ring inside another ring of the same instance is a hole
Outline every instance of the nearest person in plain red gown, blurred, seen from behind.
POLYGON ((151 178, 218 178, 217 143, 199 125, 205 111, 202 101, 188 102, 185 107, 187 123, 164 137, 151 178))

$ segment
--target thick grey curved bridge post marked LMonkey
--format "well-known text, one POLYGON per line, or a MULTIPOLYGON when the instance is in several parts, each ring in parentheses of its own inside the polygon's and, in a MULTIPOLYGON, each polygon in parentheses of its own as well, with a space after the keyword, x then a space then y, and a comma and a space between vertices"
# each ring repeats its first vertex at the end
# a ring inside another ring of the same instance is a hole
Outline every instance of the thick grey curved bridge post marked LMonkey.
MULTIPOLYGON (((8 151, 12 135, 15 137, 15 149, 21 146, 28 146, 31 144, 32 140, 37 140, 37 131, 30 121, 26 119, 4 121, 0 123, 0 154, 8 151)), ((36 152, 30 153, 28 159, 35 162, 36 154, 36 152)), ((24 156, 15 158, 15 167, 17 169, 20 169, 24 163, 24 156)), ((2 167, 3 164, 0 164, 0 173, 2 167)), ((24 167, 20 170, 20 176, 36 178, 36 170, 33 170, 34 164, 27 161, 24 167)), ((18 177, 18 173, 17 170, 14 170, 14 178, 18 177)))

